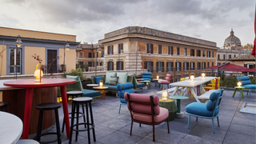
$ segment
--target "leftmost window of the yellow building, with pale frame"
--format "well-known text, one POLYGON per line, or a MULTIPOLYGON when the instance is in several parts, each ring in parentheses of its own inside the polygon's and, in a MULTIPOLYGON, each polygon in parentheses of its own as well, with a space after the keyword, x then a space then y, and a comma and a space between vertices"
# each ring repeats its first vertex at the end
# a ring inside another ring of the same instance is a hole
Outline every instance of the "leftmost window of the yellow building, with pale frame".
POLYGON ((10 67, 10 74, 16 74, 16 68, 17 68, 17 74, 21 74, 22 71, 22 49, 18 48, 16 51, 16 48, 10 48, 9 49, 9 67, 10 67), (17 67, 15 67, 15 65, 17 67))

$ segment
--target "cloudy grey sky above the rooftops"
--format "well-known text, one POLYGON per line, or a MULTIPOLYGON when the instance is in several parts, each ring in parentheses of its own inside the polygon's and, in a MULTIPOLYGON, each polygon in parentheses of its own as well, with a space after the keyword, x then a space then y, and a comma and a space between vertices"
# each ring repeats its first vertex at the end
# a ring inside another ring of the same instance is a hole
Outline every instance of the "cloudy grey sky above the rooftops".
MULTIPOLYGON (((0 26, 77 35, 97 43, 104 34, 142 26, 216 42, 234 35, 254 42, 254 0, 0 0, 0 26)), ((0 32, 1 34, 1 32, 0 32)))

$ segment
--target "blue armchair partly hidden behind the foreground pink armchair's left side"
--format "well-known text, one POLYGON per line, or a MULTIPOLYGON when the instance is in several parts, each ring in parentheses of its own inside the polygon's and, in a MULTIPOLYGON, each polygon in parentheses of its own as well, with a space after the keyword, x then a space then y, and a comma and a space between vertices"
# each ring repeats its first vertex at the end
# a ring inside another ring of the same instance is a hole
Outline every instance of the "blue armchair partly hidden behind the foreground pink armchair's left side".
POLYGON ((124 98, 125 93, 134 93, 134 84, 132 82, 129 83, 124 83, 124 84, 118 84, 117 89, 118 89, 118 96, 120 98, 120 106, 119 106, 119 112, 121 110, 121 105, 127 105, 127 102, 124 98))

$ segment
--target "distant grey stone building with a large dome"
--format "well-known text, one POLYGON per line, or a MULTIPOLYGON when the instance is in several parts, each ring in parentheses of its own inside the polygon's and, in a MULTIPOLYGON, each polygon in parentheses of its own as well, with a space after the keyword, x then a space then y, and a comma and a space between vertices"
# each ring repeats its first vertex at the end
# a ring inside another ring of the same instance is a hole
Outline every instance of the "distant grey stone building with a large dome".
POLYGON ((251 50, 242 50, 240 39, 234 36, 234 31, 231 29, 230 36, 225 39, 223 48, 217 51, 217 65, 230 62, 230 58, 250 53, 251 50))

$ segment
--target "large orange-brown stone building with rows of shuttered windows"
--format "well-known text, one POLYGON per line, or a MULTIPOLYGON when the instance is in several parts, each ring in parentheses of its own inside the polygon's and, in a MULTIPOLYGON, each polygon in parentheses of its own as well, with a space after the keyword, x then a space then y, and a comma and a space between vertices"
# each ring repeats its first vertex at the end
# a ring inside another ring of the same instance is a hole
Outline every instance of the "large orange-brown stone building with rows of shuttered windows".
POLYGON ((216 42, 140 26, 107 33, 99 43, 105 49, 104 70, 148 69, 171 73, 202 69, 215 66, 219 50, 216 42))

